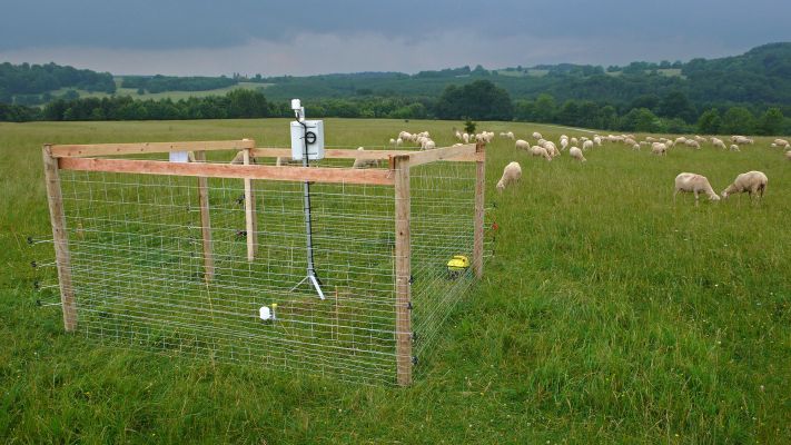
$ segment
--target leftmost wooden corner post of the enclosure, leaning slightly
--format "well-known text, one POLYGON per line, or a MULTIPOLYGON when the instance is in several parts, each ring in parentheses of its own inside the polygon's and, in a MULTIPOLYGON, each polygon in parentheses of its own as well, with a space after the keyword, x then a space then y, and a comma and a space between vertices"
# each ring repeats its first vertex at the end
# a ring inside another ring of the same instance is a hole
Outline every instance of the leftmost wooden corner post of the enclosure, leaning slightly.
POLYGON ((60 190, 58 159, 52 157, 51 146, 43 146, 45 180, 47 182, 47 200, 49 218, 52 224, 52 240, 55 259, 58 266, 60 281, 60 303, 63 307, 63 328, 67 333, 77 329, 77 304, 71 287, 71 254, 69 254, 69 236, 66 233, 66 215, 63 214, 63 196, 60 190))

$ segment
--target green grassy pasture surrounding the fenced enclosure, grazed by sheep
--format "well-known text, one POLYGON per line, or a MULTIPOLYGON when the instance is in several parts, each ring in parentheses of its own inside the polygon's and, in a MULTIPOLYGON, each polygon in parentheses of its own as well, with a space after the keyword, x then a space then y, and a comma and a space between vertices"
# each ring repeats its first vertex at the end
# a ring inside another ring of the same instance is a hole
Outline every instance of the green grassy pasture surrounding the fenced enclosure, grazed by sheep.
MULTIPOLYGON (((328 145, 369 148, 402 129, 449 145, 453 126, 325 121, 328 145)), ((245 137, 284 145, 286 121, 0 125, 3 442, 791 442, 791 162, 767 139, 662 158, 612 145, 586 164, 490 145, 495 256, 409 388, 119 349, 66 335, 59 308, 36 305, 30 261, 46 245, 26 237, 49 230, 42 144, 245 137), (523 179, 498 195, 512 160, 523 179), (719 191, 753 169, 769 176, 760 204, 673 204, 681 171, 719 191)))

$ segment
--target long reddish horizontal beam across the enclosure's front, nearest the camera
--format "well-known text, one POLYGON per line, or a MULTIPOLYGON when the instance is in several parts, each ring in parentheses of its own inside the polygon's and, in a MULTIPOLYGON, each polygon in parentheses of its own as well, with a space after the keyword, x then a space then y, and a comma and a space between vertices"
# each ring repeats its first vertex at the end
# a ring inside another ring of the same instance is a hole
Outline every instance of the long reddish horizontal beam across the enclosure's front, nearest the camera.
POLYGON ((326 167, 239 166, 137 159, 60 158, 62 170, 108 171, 141 175, 196 176, 206 178, 266 179, 281 181, 344 182, 393 186, 389 170, 326 167))

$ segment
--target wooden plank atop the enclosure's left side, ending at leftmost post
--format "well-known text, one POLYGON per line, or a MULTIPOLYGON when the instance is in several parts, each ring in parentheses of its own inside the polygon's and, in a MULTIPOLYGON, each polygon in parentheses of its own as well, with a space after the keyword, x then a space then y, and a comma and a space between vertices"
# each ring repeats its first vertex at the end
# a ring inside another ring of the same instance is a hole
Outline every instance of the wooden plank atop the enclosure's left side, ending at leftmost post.
POLYGON ((56 158, 111 156, 111 155, 140 155, 170 151, 198 151, 198 150, 244 150, 254 148, 256 141, 243 140, 202 140, 178 142, 140 142, 140 144, 93 144, 93 145, 55 145, 51 146, 52 156, 56 158))

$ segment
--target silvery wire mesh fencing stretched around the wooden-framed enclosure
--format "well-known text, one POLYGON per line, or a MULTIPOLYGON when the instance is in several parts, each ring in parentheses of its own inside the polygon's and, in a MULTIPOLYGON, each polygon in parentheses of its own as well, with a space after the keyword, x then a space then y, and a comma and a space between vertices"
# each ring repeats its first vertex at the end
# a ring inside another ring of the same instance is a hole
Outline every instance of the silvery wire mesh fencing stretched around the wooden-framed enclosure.
POLYGON ((476 170, 407 171, 401 194, 399 181, 312 182, 307 212, 297 181, 61 170, 77 330, 147 350, 407 382, 404 360, 429 353, 474 283, 471 267, 448 260, 474 255, 476 170), (406 238, 396 234, 404 221, 406 238), (307 279, 309 255, 320 293, 307 279))

